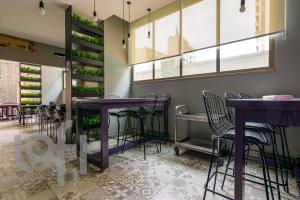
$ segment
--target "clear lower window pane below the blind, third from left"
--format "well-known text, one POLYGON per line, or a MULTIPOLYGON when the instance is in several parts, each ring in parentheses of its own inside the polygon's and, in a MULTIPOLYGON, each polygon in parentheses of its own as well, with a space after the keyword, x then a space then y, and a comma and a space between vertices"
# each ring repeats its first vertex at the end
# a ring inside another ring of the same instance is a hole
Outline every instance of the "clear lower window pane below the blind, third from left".
POLYGON ((183 54, 182 75, 206 74, 216 72, 216 57, 216 48, 183 54))

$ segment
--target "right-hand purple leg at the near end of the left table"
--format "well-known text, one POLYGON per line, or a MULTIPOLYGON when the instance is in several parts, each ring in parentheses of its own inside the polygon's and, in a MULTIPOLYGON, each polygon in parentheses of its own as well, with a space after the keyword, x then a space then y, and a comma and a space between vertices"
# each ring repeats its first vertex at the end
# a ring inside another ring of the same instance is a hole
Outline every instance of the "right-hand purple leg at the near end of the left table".
POLYGON ((101 169, 108 167, 109 148, 108 148, 108 108, 101 108, 101 169))

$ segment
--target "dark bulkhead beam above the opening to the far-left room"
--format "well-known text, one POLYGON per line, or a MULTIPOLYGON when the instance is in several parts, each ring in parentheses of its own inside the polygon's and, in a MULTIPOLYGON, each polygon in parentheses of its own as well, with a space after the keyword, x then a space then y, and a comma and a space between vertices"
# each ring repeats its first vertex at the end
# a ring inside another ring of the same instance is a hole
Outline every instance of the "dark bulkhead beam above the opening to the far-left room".
POLYGON ((0 59, 65 67, 65 59, 54 55, 55 52, 64 53, 63 48, 37 43, 37 49, 37 52, 32 53, 19 49, 0 47, 0 59))

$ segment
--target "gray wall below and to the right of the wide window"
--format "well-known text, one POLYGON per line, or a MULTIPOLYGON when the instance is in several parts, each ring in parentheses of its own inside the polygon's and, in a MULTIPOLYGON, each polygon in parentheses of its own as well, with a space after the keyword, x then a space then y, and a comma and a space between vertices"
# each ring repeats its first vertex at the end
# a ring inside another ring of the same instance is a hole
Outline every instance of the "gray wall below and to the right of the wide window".
MULTIPOLYGON (((172 96, 169 112, 169 127, 172 136, 175 105, 186 104, 193 112, 203 112, 201 92, 204 89, 219 95, 223 95, 225 91, 236 94, 245 91, 257 97, 265 94, 293 94, 300 97, 300 1, 287 0, 287 4, 287 39, 282 40, 281 37, 276 39, 275 72, 133 83, 133 95, 140 96, 156 92, 157 94, 169 93, 172 96)), ((209 141, 211 133, 207 125, 194 125, 191 132, 209 141)), ((288 129, 291 153, 298 157, 300 156, 299 132, 298 128, 288 129)))

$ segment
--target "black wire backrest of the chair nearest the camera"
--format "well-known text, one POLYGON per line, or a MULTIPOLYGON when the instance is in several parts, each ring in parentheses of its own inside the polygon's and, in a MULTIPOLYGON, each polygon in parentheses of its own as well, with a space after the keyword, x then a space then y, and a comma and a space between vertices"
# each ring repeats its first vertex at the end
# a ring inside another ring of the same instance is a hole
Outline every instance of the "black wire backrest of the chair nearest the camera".
POLYGON ((203 99, 209 126, 217 136, 234 128, 221 97, 204 90, 203 99))

